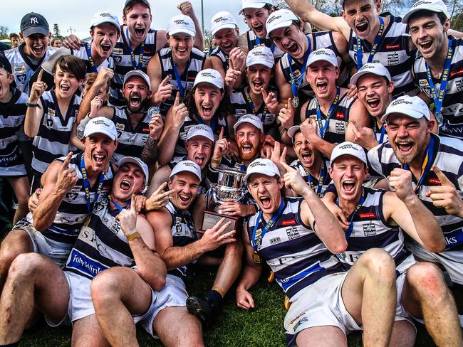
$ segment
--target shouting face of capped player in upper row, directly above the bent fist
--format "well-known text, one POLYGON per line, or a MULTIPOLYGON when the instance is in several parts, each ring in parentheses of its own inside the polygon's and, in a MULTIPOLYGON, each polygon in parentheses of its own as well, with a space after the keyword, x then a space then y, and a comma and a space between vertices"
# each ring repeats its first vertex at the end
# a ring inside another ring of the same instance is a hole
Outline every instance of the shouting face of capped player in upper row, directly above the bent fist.
POLYGON ((327 98, 336 90, 339 68, 325 60, 318 60, 307 67, 306 78, 316 97, 327 98))

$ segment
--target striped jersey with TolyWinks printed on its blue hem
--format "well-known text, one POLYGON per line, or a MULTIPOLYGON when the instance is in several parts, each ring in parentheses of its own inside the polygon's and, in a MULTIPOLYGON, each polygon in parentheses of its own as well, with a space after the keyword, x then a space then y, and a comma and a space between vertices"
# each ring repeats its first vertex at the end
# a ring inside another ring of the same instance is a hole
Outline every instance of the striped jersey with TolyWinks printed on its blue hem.
POLYGON ((115 219, 118 214, 119 210, 110 210, 108 199, 95 205, 80 229, 63 271, 93 279, 110 267, 135 267, 127 237, 115 219))

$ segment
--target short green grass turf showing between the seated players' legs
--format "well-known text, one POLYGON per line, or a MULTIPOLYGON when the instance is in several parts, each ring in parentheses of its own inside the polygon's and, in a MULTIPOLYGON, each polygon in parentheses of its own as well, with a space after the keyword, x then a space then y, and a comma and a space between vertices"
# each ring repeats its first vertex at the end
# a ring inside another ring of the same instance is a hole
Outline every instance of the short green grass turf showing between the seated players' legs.
MULTIPOLYGON (((206 270, 198 272, 194 279, 187 281, 189 294, 202 296, 209 290, 214 281, 214 272, 206 270)), ((283 292, 276 284, 269 284, 262 278, 259 284, 251 289, 256 301, 256 309, 244 311, 235 304, 234 290, 224 300, 224 309, 211 329, 204 331, 206 346, 286 346, 283 330, 283 317, 286 309, 283 307, 283 292)), ((456 293, 459 311, 463 308, 463 293, 456 293)), ((380 314, 378 314, 380 316, 380 314)), ((417 324, 417 342, 415 346, 435 346, 424 326, 417 324)), ((142 329, 138 329, 140 346, 162 346, 142 329)), ((172 332, 173 333, 173 332, 172 332)), ((71 346, 71 328, 52 329, 44 321, 24 333, 21 346, 60 347, 71 346)), ((348 346, 362 346, 360 333, 348 336, 348 346)))

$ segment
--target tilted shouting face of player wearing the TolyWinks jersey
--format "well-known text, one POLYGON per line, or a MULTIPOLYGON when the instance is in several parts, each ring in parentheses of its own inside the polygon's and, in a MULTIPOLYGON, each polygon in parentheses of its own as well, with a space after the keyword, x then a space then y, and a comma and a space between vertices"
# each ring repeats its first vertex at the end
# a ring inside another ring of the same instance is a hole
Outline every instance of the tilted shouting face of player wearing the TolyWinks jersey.
POLYGON ((114 176, 111 195, 121 202, 128 202, 132 194, 139 194, 143 190, 145 175, 142 168, 134 163, 120 166, 114 176))

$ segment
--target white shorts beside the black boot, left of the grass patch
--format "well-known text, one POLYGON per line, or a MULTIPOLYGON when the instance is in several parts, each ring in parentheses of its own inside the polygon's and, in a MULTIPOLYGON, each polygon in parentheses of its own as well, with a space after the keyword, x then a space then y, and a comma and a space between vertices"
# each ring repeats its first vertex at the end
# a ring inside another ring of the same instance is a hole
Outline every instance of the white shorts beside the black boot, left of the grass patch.
POLYGON ((183 280, 180 279, 180 277, 167 274, 165 287, 160 292, 152 290, 151 307, 140 320, 140 324, 143 329, 145 329, 152 337, 159 338, 153 329, 153 322, 155 321, 157 314, 166 307, 187 306, 187 297, 187 288, 185 287, 183 280))

